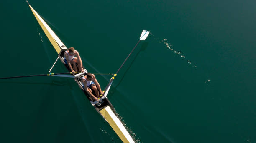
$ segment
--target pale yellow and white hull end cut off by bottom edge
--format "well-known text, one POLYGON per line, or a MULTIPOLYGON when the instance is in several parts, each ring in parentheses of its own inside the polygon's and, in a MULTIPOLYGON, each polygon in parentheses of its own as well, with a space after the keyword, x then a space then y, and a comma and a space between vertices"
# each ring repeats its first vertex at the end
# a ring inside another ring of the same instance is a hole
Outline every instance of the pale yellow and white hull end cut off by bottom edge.
POLYGON ((124 143, 134 143, 130 134, 125 129, 125 127, 123 126, 122 122, 118 119, 118 117, 115 116, 110 106, 107 106, 100 110, 100 113, 102 114, 102 116, 104 116, 104 118, 108 121, 108 123, 113 128, 115 133, 124 143))

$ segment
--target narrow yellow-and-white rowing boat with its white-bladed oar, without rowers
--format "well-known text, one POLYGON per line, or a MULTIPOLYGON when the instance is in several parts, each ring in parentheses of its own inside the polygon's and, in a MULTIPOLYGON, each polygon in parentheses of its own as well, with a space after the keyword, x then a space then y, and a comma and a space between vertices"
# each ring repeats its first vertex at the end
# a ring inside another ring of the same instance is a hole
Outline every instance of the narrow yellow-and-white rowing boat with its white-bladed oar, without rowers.
MULTIPOLYGON (((28 3, 28 1, 27 1, 27 3, 28 3)), ((33 15, 36 17, 36 20, 39 23, 40 27, 42 28, 45 35, 47 36, 47 38, 51 42, 52 46, 54 47, 54 49, 58 53, 58 58, 56 59, 56 61, 58 59, 60 59, 61 62, 63 63, 63 65, 67 68, 67 70, 69 72, 71 72, 71 70, 69 69, 67 64, 65 64, 65 62, 64 62, 64 52, 67 51, 67 47, 63 44, 63 42, 61 42, 59 37, 54 33, 53 30, 51 30, 49 25, 46 24, 46 22, 41 18, 41 16, 38 15, 38 13, 33 9, 33 7, 31 7, 31 5, 29 3, 28 3, 28 5, 29 5, 31 11, 33 12, 33 15)), ((140 40, 146 39, 146 37, 148 36, 148 33, 149 33, 148 31, 143 30, 143 32, 141 34, 141 37, 140 37, 140 40)), ((139 40, 139 42, 140 42, 140 40, 139 40)), ((136 44, 136 46, 138 45, 138 43, 136 44)), ((129 56, 130 56, 130 54, 129 54, 129 56)), ((125 61, 127 60, 127 58, 125 59, 125 61)), ((124 64, 124 62, 123 62, 123 64, 124 64)), ((122 64, 122 66, 123 66, 123 64, 122 64)), ((120 68, 118 69, 118 72, 119 72, 120 68)), ((51 72, 51 69, 50 69, 49 72, 51 72)), ((113 83, 113 79, 115 79, 115 76, 117 75, 118 72, 116 72, 116 74, 114 74, 113 77, 110 79, 108 85, 106 86, 105 90, 103 91, 104 94, 101 95, 99 101, 94 101, 94 102, 92 101, 92 99, 90 99, 90 96, 87 94, 87 92, 84 91, 84 88, 83 88, 82 83, 81 83, 82 77, 87 74, 87 70, 85 68, 84 68, 84 72, 76 74, 75 76, 71 76, 71 75, 70 76, 69 75, 53 75, 53 76, 62 76, 62 77, 64 76, 64 77, 74 78, 74 81, 78 84, 80 89, 82 89, 82 91, 84 92, 84 95, 91 102, 92 106, 96 109, 96 111, 98 113, 100 113, 100 115, 105 119, 105 121, 107 121, 110 124, 110 126, 113 128, 115 133, 117 133, 117 135, 119 136, 119 138, 124 143, 134 143, 133 138, 130 136, 130 134, 128 133, 128 131, 125 129, 122 122, 120 121, 120 119, 117 117, 117 113, 115 112, 115 110, 113 108, 113 105, 110 103, 110 101, 107 98, 108 91, 109 91, 109 89, 110 89, 110 87, 113 83)))

